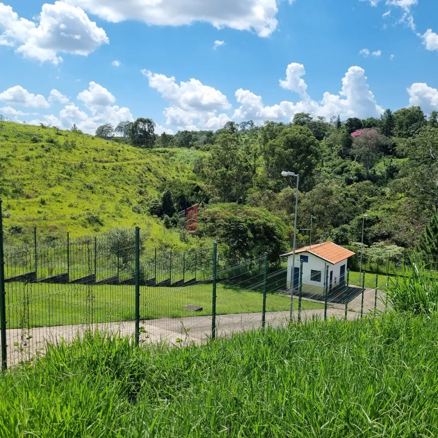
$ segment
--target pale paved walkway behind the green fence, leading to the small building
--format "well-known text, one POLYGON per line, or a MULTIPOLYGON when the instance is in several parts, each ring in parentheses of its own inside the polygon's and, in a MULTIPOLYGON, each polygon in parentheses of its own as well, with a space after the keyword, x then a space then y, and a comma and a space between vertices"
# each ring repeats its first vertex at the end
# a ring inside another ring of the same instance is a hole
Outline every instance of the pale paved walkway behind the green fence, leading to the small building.
MULTIPOLYGON (((364 314, 374 310, 374 289, 367 289, 364 293, 364 314)), ((358 295, 348 305, 347 318, 353 320, 360 318, 360 306, 362 295, 358 295)), ((378 309, 383 310, 383 304, 378 299, 378 309)), ((327 309, 327 317, 342 319, 345 315, 345 306, 332 304, 327 309)), ((289 322, 289 311, 267 312, 266 325, 274 328, 286 327, 289 322)), ((298 319, 298 311, 293 312, 295 321, 298 319)), ((324 318, 324 309, 303 310, 302 321, 312 318, 324 318)), ((216 336, 227 337, 236 332, 245 332, 261 327, 261 312, 218 315, 216 317, 216 336)), ((31 360, 44 354, 46 343, 59 343, 64 339, 67 343, 74 337, 82 336, 91 330, 99 329, 106 334, 117 336, 131 336, 134 334, 134 322, 113 322, 93 325, 63 325, 55 327, 37 327, 31 330, 9 329, 7 330, 8 342, 8 366, 18 364, 25 360, 31 360)), ((187 346, 192 343, 206 342, 212 333, 211 316, 190 316, 186 318, 162 318, 149 321, 141 321, 140 341, 142 343, 161 343, 169 345, 187 346)))

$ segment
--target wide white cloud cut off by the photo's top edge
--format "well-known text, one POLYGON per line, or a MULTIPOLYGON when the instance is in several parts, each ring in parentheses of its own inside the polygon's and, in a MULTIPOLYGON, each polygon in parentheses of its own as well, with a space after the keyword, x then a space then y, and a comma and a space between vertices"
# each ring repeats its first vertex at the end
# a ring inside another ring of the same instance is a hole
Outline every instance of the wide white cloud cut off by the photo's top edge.
POLYGON ((204 21, 271 35, 278 21, 277 0, 64 0, 107 21, 144 21, 149 25, 189 25, 204 21))

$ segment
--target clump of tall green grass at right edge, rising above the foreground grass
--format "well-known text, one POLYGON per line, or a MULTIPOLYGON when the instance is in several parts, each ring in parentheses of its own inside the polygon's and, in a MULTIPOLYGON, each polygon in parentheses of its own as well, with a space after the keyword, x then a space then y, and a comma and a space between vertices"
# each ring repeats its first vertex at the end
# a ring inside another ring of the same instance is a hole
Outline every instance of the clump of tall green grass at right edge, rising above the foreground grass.
POLYGON ((438 309, 438 279, 427 265, 403 265, 401 275, 389 279, 387 298, 398 312, 431 314, 438 309))

